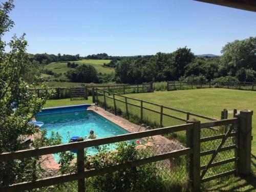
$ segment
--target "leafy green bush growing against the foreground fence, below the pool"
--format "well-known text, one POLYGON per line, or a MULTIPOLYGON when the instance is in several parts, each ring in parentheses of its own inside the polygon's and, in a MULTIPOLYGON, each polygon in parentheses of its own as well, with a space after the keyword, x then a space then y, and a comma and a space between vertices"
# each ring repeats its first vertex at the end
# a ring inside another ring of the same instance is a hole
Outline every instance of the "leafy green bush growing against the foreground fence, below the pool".
MULTIPOLYGON (((99 169, 146 156, 143 150, 136 150, 135 143, 117 145, 115 153, 108 152, 107 147, 99 149, 100 152, 91 157, 89 168, 99 169)), ((157 170, 156 163, 145 164, 93 177, 88 182, 97 191, 163 191, 164 184, 157 170)))

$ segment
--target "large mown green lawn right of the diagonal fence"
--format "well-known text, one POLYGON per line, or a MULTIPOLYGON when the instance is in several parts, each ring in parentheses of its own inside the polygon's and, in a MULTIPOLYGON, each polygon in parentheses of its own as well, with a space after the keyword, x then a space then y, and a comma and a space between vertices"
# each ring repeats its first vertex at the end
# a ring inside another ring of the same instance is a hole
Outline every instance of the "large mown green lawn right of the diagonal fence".
MULTIPOLYGON (((127 94, 127 96, 218 119, 223 109, 256 111, 255 91, 214 88, 127 94)), ((232 115, 229 114, 231 117, 232 115)), ((256 138, 255 115, 252 116, 252 134, 256 138)), ((252 152, 256 154, 256 139, 252 141, 252 152)))

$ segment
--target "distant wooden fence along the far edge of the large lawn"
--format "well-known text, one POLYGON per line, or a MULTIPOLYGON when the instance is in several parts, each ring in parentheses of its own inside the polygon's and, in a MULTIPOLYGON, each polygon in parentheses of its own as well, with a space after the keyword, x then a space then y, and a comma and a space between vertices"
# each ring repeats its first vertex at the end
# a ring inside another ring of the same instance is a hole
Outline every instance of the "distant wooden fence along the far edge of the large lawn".
POLYGON ((225 81, 208 81, 208 82, 184 82, 184 81, 167 81, 167 91, 201 89, 201 88, 226 88, 238 90, 256 91, 255 82, 225 82, 225 81))

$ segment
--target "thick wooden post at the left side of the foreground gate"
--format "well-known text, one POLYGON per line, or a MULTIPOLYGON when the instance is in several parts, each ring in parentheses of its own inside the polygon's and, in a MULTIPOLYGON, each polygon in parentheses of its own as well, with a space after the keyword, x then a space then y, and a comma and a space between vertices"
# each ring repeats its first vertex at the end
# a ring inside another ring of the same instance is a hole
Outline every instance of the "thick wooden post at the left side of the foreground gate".
POLYGON ((193 123, 194 128, 186 131, 186 147, 193 148, 193 153, 188 155, 188 177, 193 191, 200 191, 200 121, 190 119, 187 123, 193 123))

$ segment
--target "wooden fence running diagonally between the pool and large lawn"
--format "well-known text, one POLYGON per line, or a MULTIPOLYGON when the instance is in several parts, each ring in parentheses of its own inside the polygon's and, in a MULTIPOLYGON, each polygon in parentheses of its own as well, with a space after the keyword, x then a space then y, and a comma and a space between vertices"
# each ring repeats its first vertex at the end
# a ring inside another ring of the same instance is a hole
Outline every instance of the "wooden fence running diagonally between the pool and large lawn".
MULTIPOLYGON (((148 113, 158 115, 158 119, 154 118, 156 124, 160 127, 169 125, 163 121, 174 122, 175 124, 180 124, 182 122, 187 122, 191 118, 200 118, 200 120, 217 120, 215 118, 206 117, 203 115, 170 108, 169 106, 160 105, 150 101, 140 100, 132 97, 123 96, 113 92, 109 92, 102 89, 94 89, 93 92, 93 102, 97 101, 106 110, 108 106, 114 109, 114 114, 118 114, 118 110, 121 111, 126 117, 129 118, 130 115, 135 115, 140 118, 140 122, 148 121, 147 116, 151 116, 148 113), (107 100, 108 99, 108 100, 107 100), (119 102, 119 104, 117 103, 119 102), (130 109, 132 108, 133 109, 130 109), (147 114, 145 114, 147 113, 147 114), (169 119, 165 119, 165 118, 169 119), (172 120, 170 120, 172 118, 172 120), (177 121, 174 121, 177 120, 177 121), (164 125, 165 124, 165 125, 164 125)), ((153 118, 154 116, 151 116, 153 118)), ((171 124, 174 125, 174 124, 171 124)))

